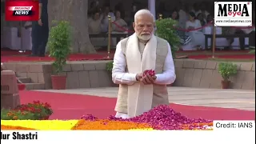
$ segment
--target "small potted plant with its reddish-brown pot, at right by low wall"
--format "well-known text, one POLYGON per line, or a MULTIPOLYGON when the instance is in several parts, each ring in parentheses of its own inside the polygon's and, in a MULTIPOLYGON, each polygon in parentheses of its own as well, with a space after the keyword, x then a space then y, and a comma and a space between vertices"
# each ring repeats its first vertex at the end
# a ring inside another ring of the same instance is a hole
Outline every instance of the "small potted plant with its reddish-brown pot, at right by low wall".
POLYGON ((237 65, 232 62, 220 62, 218 64, 218 73, 222 75, 222 89, 230 87, 230 76, 237 74, 237 65))

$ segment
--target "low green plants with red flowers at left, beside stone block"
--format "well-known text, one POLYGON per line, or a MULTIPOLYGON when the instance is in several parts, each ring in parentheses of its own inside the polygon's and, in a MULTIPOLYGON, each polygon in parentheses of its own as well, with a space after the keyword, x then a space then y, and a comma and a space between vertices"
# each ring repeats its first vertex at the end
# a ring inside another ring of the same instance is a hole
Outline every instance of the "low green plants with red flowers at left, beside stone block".
POLYGON ((53 110, 46 102, 34 101, 32 103, 17 106, 13 110, 1 110, 3 120, 42 120, 48 119, 53 114, 53 110))

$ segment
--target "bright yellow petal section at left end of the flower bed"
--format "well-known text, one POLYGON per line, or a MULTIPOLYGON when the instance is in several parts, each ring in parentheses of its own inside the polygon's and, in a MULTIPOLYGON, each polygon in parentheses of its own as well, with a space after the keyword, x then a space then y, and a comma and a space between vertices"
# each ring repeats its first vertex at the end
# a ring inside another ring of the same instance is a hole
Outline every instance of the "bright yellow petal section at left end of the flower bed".
POLYGON ((78 120, 1 120, 1 125, 5 126, 22 126, 35 130, 71 130, 78 120))

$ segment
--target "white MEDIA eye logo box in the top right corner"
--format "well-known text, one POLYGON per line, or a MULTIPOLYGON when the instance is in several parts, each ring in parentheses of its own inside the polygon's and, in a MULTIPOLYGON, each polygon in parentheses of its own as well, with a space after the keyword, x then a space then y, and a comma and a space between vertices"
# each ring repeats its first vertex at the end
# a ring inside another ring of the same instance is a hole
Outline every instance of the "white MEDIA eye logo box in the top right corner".
POLYGON ((252 26, 253 2, 214 2, 215 26, 252 26))

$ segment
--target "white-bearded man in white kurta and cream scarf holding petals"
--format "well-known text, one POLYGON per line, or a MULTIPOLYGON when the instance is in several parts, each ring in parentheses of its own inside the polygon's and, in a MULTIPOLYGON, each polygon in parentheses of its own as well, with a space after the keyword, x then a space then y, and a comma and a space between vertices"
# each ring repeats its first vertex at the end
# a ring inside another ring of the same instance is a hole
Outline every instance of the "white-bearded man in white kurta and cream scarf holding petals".
POLYGON ((119 84, 116 117, 138 116, 154 106, 169 105, 166 85, 176 75, 170 45, 154 36, 154 16, 149 10, 134 15, 135 33, 118 42, 112 70, 113 82, 119 84), (142 76, 144 70, 156 74, 142 76))

